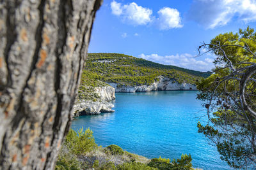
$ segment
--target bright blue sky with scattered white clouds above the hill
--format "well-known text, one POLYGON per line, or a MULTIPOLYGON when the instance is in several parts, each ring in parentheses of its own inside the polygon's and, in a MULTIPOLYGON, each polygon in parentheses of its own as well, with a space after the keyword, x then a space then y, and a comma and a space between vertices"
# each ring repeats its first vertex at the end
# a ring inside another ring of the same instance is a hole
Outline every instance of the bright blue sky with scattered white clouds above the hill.
POLYGON ((203 42, 247 26, 256 29, 256 0, 104 0, 88 52, 124 53, 196 71, 211 71, 203 42))

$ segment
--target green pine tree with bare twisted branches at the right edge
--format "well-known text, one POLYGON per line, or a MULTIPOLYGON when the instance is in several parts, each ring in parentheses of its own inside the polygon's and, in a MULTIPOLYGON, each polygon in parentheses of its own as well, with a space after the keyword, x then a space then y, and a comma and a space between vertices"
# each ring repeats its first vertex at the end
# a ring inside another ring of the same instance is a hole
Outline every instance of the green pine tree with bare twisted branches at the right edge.
POLYGON ((198 132, 216 144, 231 167, 255 169, 256 117, 248 107, 256 110, 256 75, 246 76, 256 68, 256 32, 247 27, 220 34, 204 46, 218 57, 214 74, 198 83, 198 99, 205 101, 209 117, 208 124, 198 122, 198 132))

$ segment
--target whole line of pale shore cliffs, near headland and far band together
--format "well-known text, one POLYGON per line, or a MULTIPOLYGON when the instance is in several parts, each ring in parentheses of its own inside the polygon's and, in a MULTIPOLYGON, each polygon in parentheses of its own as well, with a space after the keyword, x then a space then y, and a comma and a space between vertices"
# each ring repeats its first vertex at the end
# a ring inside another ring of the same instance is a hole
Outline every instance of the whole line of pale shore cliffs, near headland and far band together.
POLYGON ((118 83, 108 83, 108 86, 95 87, 93 93, 99 96, 99 99, 80 100, 72 110, 73 117, 79 115, 97 115, 100 113, 113 112, 115 92, 150 92, 150 91, 170 91, 170 90, 196 90, 196 85, 190 83, 178 83, 175 80, 158 76, 158 81, 151 85, 140 85, 131 87, 129 85, 120 85, 118 83))

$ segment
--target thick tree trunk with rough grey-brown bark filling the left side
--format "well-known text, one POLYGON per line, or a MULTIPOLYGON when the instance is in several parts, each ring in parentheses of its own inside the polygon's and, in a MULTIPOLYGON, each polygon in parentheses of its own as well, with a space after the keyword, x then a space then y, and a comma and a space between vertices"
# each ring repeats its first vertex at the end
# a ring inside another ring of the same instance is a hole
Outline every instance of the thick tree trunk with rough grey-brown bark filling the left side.
POLYGON ((0 169, 54 169, 102 0, 0 0, 0 169))

